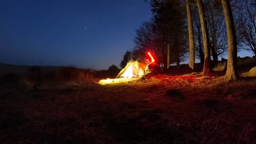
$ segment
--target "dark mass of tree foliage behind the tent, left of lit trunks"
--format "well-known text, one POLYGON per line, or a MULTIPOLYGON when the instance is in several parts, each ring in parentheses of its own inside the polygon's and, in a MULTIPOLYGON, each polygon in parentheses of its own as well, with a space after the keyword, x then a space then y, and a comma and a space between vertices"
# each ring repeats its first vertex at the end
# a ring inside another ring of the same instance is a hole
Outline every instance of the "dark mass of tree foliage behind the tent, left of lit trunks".
POLYGON ((167 44, 170 44, 170 61, 179 65, 188 52, 184 9, 179 1, 154 0, 150 5, 154 17, 136 30, 133 57, 138 59, 151 51, 157 64, 167 67, 167 44))

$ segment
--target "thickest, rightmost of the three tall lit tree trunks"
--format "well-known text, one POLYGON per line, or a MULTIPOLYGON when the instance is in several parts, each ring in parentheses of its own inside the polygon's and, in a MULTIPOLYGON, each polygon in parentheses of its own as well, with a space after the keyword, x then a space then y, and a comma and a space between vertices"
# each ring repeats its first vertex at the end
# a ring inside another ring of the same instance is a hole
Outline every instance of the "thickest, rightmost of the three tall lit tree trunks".
POLYGON ((227 63, 227 71, 226 77, 229 80, 237 80, 236 73, 236 60, 237 60, 237 43, 236 43, 236 30, 234 19, 231 11, 231 6, 229 0, 221 0, 226 27, 227 27, 227 35, 228 35, 228 63, 227 63))

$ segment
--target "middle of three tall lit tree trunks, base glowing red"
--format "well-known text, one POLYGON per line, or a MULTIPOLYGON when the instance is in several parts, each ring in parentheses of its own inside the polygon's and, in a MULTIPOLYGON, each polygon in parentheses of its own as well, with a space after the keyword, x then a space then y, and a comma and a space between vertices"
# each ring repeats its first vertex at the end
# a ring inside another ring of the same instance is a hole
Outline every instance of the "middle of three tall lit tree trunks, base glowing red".
POLYGON ((209 34, 207 29, 207 22, 205 19, 205 11, 202 0, 196 0, 198 11, 199 11, 199 17, 200 17, 200 23, 202 26, 202 34, 203 34, 203 41, 204 41, 204 70, 202 76, 210 76, 211 69, 210 69, 210 60, 211 55, 209 51, 209 34))

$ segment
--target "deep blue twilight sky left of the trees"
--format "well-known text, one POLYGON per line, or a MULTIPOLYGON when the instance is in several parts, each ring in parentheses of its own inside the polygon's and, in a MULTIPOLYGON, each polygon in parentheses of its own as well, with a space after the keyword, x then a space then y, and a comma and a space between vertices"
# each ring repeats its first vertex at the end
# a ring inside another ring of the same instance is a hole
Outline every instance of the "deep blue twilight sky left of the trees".
POLYGON ((0 62, 107 69, 151 11, 144 0, 8 0, 0 16, 0 62))

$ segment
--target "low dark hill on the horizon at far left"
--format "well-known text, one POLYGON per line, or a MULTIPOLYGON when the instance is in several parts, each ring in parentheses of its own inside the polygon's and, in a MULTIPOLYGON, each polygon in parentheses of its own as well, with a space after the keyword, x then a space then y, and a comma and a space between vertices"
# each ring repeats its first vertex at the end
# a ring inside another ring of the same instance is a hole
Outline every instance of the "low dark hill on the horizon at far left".
MULTIPOLYGON (((21 66, 21 65, 10 65, 7 63, 0 62, 0 75, 6 73, 17 73, 17 74, 24 74, 28 72, 31 67, 35 66, 21 66)), ((57 71, 60 66, 36 66, 41 69, 42 73, 51 73, 57 71)))

